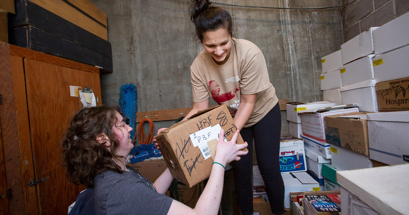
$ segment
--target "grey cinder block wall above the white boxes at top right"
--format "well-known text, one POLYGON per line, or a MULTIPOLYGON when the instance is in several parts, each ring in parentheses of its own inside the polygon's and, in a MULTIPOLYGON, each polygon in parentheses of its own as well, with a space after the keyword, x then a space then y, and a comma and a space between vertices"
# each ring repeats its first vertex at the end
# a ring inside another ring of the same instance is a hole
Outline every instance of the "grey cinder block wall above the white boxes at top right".
MULTIPOLYGON (((348 4, 354 0, 342 0, 348 4)), ((355 0, 342 9, 344 42, 409 12, 409 0, 355 0)))

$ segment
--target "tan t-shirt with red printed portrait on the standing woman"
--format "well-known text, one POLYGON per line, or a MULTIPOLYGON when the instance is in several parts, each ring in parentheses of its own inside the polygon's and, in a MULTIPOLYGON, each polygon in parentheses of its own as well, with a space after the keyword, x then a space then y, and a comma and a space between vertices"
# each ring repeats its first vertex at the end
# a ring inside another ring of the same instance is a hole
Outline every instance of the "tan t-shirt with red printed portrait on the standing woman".
POLYGON ((279 100, 270 83, 263 53, 248 40, 233 39, 229 59, 223 65, 217 65, 203 50, 190 71, 193 102, 202 102, 211 96, 218 104, 227 104, 232 116, 238 110, 241 94, 257 94, 253 112, 244 127, 263 119, 279 100))

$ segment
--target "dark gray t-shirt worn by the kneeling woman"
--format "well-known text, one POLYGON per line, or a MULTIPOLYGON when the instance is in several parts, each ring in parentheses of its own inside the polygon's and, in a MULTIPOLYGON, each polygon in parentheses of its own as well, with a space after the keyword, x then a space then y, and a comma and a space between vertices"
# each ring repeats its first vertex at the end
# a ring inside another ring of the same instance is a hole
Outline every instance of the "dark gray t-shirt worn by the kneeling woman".
POLYGON ((132 171, 104 170, 95 176, 97 214, 167 214, 173 199, 157 193, 151 181, 127 168, 132 171))

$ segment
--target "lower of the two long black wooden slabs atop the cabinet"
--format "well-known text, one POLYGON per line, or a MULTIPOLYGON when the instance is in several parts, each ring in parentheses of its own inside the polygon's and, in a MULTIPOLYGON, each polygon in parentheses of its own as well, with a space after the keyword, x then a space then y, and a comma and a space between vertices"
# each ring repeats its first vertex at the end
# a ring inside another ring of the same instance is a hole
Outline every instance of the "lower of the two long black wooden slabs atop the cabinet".
POLYGON ((34 26, 13 28, 9 31, 9 43, 24 48, 102 67, 103 72, 112 72, 112 57, 73 43, 34 26))

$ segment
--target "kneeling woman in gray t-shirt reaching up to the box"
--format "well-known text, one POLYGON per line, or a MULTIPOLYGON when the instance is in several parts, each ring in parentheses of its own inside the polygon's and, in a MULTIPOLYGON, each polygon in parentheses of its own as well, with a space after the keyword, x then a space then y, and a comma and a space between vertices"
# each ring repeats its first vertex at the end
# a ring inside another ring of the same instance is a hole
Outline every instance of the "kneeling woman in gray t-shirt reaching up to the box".
POLYGON ((74 183, 94 187, 97 214, 218 213, 223 166, 247 154, 240 151, 247 143, 236 144, 238 131, 229 142, 220 136, 209 181, 195 208, 164 195, 173 180, 168 168, 152 183, 126 166, 126 157, 134 147, 131 131, 119 108, 101 105, 79 110, 63 138, 67 177, 74 183))

